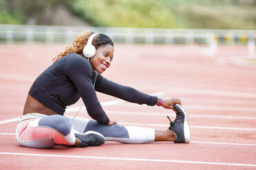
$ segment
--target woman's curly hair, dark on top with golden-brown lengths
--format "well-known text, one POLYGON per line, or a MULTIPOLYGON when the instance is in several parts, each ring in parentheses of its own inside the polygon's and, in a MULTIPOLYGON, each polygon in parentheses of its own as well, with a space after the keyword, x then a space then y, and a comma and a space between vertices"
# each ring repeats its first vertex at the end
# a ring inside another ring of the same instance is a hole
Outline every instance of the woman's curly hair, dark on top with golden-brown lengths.
MULTIPOLYGON (((89 36, 91 36, 92 34, 94 34, 94 32, 85 31, 81 35, 76 36, 76 38, 73 40, 72 45, 65 47, 65 51, 62 51, 61 53, 58 53, 58 55, 54 56, 54 58, 52 59, 53 62, 56 62, 56 60, 63 58, 64 56, 67 56, 67 54, 69 53, 78 53, 81 56, 83 56, 83 48, 87 44, 87 40, 89 39, 89 36)), ((109 38, 105 34, 96 35, 92 42, 92 45, 94 45, 96 49, 98 49, 100 45, 107 45, 107 44, 114 46, 114 42, 111 40, 111 38, 109 38)))

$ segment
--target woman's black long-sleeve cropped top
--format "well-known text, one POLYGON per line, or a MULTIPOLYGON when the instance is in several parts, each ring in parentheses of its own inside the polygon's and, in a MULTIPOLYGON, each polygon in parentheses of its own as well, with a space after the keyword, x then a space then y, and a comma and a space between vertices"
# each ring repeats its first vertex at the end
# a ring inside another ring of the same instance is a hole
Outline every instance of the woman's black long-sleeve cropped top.
POLYGON ((95 90, 148 106, 156 105, 158 100, 156 96, 107 80, 92 71, 89 61, 77 53, 70 53, 45 69, 32 84, 29 94, 47 108, 62 115, 66 106, 75 104, 82 97, 89 116, 99 123, 107 124, 109 118, 100 106, 95 90))

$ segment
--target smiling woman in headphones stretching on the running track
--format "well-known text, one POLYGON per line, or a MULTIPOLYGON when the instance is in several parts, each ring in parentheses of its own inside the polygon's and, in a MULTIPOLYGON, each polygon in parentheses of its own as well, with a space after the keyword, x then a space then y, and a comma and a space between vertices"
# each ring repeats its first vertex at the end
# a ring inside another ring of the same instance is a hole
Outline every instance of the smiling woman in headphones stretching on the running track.
POLYGON ((43 71, 30 88, 17 125, 19 144, 50 148, 54 145, 98 146, 105 141, 189 143, 187 115, 179 99, 146 95, 100 75, 109 68, 113 54, 114 42, 108 36, 89 31, 77 36, 72 46, 59 53, 54 64, 43 71), (170 120, 169 130, 121 126, 109 120, 95 90, 136 104, 173 109, 177 117, 174 123, 170 120), (80 97, 94 120, 63 116, 66 106, 75 104, 80 97))

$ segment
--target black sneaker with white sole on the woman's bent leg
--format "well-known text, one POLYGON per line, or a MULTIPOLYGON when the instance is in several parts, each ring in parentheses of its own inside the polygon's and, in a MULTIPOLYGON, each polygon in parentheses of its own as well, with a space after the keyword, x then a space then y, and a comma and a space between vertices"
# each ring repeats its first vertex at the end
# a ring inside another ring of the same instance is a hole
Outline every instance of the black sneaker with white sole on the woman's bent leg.
POLYGON ((105 138, 102 134, 94 131, 88 131, 75 136, 81 140, 81 144, 77 147, 99 146, 105 143, 105 138))

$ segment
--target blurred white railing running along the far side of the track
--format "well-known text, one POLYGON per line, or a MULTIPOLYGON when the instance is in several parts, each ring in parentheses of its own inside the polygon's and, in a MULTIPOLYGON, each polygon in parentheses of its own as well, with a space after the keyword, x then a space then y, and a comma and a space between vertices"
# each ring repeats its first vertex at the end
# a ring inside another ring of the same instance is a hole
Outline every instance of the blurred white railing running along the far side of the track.
POLYGON ((255 53, 256 30, 245 29, 155 29, 127 27, 71 27, 44 25, 0 25, 0 43, 66 43, 85 30, 107 34, 115 43, 248 45, 255 53))

